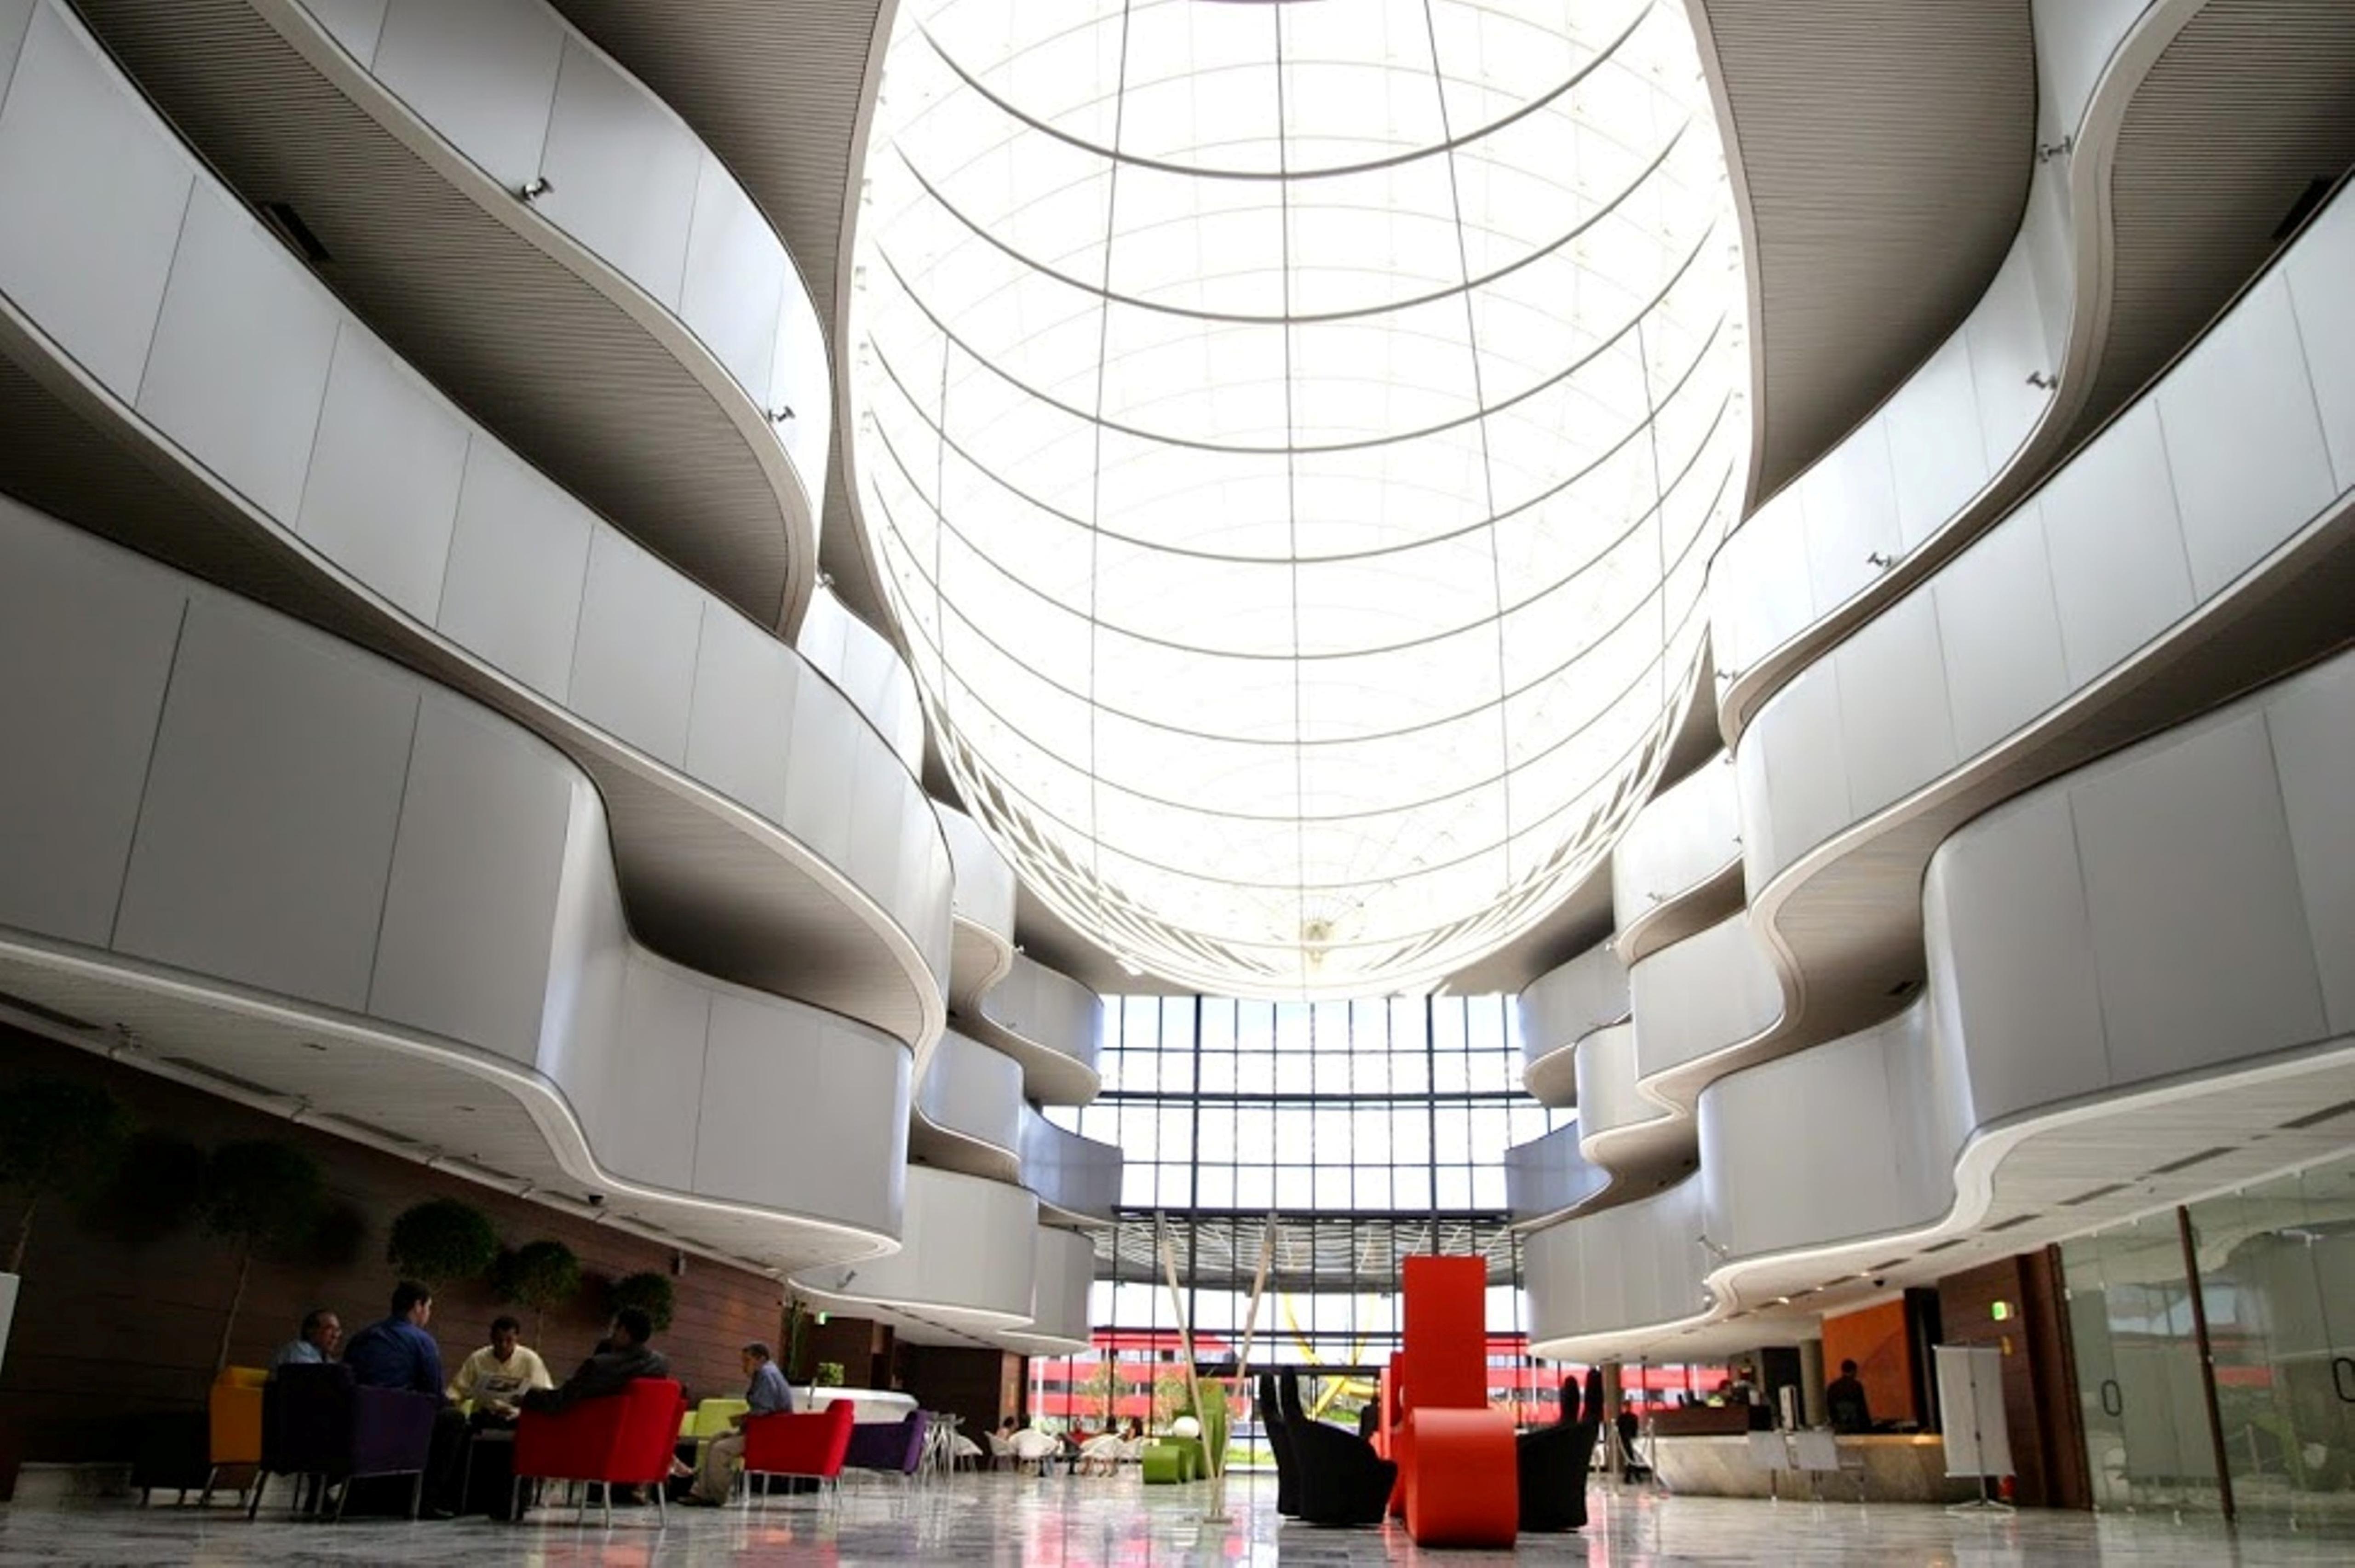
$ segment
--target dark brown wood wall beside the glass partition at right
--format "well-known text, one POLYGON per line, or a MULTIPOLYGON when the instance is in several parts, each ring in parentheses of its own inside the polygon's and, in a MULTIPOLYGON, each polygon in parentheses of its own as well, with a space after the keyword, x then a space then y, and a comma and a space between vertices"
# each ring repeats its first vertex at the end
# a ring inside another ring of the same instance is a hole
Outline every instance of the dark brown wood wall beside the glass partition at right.
POLYGON ((2046 1253, 2004 1257, 1938 1281, 1943 1344, 1992 1344, 2004 1354, 2004 1427, 2011 1436, 2014 1502, 2094 1507, 2068 1380, 2068 1316, 2046 1253), (2004 1302, 2009 1316, 1997 1318, 2004 1302))

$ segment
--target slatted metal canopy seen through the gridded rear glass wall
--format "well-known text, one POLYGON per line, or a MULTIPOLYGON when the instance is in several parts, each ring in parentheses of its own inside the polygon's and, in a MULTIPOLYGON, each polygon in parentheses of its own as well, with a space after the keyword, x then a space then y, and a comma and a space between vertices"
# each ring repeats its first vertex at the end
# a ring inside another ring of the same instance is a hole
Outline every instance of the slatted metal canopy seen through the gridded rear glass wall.
MULTIPOLYGON (((1201 1290, 1251 1290, 1267 1215, 1168 1215, 1178 1281, 1201 1290)), ((1095 1231, 1095 1276, 1161 1281, 1161 1253, 1149 1212, 1123 1212, 1095 1231)), ((1418 1255, 1488 1260, 1488 1283, 1514 1283, 1512 1227, 1505 1215, 1281 1215, 1269 1290, 1397 1290, 1399 1264, 1418 1255)))

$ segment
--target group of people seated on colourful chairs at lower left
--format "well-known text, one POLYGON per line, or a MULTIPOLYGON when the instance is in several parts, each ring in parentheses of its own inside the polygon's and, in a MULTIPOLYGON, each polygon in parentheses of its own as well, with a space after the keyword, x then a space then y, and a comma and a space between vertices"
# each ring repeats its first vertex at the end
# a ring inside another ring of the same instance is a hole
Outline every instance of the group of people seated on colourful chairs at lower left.
MULTIPOLYGON (((436 1519, 452 1519, 464 1497, 466 1448, 485 1431, 509 1429, 525 1410, 563 1413, 584 1398, 622 1394, 638 1377, 669 1377, 671 1368, 650 1340, 655 1328, 643 1311, 624 1307, 612 1316, 605 1340, 560 1384, 549 1377, 539 1354, 523 1344, 523 1326, 511 1316, 492 1318, 490 1344, 459 1363, 455 1377, 443 1377, 440 1342, 426 1333, 433 1321, 433 1293, 417 1281, 393 1288, 391 1311, 344 1340, 344 1323, 318 1307, 301 1321, 301 1333, 271 1356, 271 1373, 283 1366, 337 1361, 351 1368, 363 1389, 403 1389, 431 1394, 440 1403, 433 1420, 433 1448, 426 1460, 426 1507, 436 1519)), ((794 1389, 787 1384, 765 1344, 742 1351, 747 1415, 789 1413, 794 1389)), ((735 1431, 711 1439, 699 1467, 674 1464, 674 1479, 695 1479, 685 1502, 718 1507, 735 1490, 735 1471, 744 1457, 744 1420, 735 1431)))

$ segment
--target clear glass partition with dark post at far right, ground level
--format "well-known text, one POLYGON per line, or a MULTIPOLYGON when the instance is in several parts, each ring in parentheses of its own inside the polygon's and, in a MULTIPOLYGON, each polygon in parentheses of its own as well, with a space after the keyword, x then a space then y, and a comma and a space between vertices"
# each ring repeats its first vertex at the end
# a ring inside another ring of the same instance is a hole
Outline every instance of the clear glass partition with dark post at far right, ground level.
POLYGON ((2061 1248, 2096 1507, 2218 1509, 2190 1293, 2207 1307, 2233 1502, 2355 1519, 2355 1156, 2061 1248))

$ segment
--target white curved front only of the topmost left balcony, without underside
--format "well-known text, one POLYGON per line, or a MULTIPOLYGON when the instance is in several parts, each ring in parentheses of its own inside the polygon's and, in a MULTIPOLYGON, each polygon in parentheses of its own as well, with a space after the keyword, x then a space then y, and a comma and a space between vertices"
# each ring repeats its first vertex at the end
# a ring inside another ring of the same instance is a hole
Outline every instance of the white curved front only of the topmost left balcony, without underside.
MULTIPOLYGON (((542 0, 254 0, 325 35, 502 191, 676 315, 775 421, 815 499, 834 377, 810 292, 768 219, 688 125, 542 0)), ((815 516, 812 506, 812 516, 815 516)))

